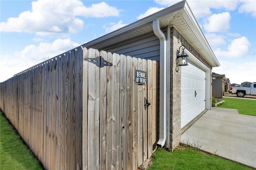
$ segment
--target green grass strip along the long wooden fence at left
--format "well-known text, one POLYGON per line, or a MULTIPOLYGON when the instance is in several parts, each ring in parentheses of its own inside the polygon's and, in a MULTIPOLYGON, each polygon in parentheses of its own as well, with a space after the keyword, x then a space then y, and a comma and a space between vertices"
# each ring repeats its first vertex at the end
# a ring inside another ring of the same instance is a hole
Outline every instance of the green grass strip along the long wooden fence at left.
POLYGON ((0 169, 1 170, 42 170, 18 132, 0 113, 0 169))

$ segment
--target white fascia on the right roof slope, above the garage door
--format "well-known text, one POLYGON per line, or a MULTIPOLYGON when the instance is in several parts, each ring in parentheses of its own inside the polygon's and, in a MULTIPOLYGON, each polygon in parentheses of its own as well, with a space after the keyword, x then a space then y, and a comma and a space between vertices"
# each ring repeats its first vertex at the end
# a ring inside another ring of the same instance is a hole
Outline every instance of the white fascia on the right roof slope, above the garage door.
MULTIPOLYGON (((190 28, 190 30, 193 32, 193 34, 196 36, 198 42, 202 45, 206 53, 208 53, 210 59, 214 63, 212 67, 219 67, 220 63, 218 62, 216 56, 214 55, 214 52, 212 51, 208 41, 206 40, 202 29, 200 28, 196 18, 194 17, 190 7, 188 6, 187 2, 184 5, 184 10, 180 12, 182 15, 182 18, 190 28)), ((207 56, 204 56, 207 57, 207 56)))

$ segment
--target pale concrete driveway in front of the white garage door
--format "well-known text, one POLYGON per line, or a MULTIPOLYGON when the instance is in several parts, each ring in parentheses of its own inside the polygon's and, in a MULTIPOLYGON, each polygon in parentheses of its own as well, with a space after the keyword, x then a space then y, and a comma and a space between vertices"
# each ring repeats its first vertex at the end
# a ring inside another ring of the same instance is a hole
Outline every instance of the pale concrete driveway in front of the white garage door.
POLYGON ((256 168, 256 117, 212 107, 182 135, 184 144, 256 168))

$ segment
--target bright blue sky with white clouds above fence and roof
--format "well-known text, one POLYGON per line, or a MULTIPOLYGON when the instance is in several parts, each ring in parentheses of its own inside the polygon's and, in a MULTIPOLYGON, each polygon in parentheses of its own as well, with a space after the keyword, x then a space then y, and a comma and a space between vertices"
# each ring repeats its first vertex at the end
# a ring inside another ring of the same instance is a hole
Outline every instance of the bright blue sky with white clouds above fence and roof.
MULTIPOLYGON (((256 82, 256 1, 187 0, 231 83, 256 82)), ((0 82, 178 0, 0 0, 0 82)))

